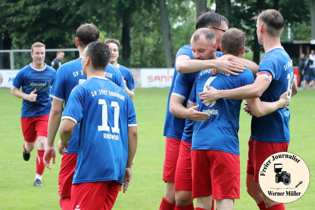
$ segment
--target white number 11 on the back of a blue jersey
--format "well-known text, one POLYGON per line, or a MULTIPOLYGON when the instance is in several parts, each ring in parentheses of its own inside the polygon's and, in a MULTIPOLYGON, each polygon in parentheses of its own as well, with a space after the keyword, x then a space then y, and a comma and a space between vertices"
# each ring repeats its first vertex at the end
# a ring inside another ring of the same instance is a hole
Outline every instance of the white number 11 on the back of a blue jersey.
MULTIPOLYGON (((102 105, 102 125, 97 126, 98 131, 109 131, 108 126, 108 112, 107 112, 107 104, 104 99, 99 99, 99 104, 102 105)), ((112 107, 114 108, 114 127, 112 128, 112 132, 119 133, 120 129, 118 128, 118 119, 119 119, 119 104, 116 101, 112 101, 112 107)))

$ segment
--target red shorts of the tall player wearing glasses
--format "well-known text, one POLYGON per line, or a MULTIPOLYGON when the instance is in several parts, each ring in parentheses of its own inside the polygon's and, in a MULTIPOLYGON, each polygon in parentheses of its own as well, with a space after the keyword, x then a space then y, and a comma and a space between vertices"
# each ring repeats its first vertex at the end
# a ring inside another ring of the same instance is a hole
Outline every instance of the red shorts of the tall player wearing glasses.
POLYGON ((175 170, 181 139, 166 137, 163 180, 175 181, 175 170))

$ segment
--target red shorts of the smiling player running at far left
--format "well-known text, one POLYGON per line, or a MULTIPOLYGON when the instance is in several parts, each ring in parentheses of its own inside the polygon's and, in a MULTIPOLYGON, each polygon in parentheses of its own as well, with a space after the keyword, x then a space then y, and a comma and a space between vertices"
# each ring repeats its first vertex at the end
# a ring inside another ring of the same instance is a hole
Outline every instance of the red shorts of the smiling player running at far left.
POLYGON ((22 132, 26 142, 35 142, 37 137, 47 137, 49 114, 41 117, 21 117, 22 132))

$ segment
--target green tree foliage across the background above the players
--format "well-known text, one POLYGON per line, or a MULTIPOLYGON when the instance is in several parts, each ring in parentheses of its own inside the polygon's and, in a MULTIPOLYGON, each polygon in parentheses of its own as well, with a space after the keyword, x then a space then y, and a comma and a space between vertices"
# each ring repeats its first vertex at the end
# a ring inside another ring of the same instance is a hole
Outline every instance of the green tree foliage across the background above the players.
MULTIPOLYGON (((195 30, 197 4, 214 8, 232 27, 243 30, 254 57, 262 51, 252 16, 278 9, 285 20, 282 40, 310 39, 310 0, 167 0, 173 54, 189 44, 195 30)), ((100 39, 121 42, 118 62, 128 67, 165 67, 166 59, 158 1, 146 0, 3 0, 0 3, 0 49, 29 49, 37 41, 47 48, 74 48, 75 31, 85 22, 100 29, 100 39)))

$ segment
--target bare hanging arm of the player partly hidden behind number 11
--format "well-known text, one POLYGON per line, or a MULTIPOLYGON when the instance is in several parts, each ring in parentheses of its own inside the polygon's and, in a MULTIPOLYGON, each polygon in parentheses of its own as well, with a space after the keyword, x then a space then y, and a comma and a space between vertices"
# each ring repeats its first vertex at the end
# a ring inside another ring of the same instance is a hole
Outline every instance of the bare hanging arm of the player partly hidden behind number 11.
POLYGON ((50 166, 51 158, 53 158, 53 164, 55 164, 56 162, 56 149, 54 148, 54 140, 60 125, 62 106, 63 101, 59 101, 53 98, 53 104, 50 109, 48 121, 47 146, 43 156, 43 163, 49 169, 51 169, 50 166))

